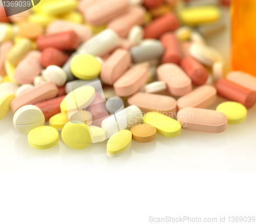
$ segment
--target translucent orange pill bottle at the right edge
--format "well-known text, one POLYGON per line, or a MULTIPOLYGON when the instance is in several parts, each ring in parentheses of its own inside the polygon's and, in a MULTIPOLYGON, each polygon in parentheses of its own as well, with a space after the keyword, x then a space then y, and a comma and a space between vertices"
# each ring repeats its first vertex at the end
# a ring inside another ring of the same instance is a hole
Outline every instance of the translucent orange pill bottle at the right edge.
POLYGON ((232 70, 256 76, 256 0, 232 0, 232 70))

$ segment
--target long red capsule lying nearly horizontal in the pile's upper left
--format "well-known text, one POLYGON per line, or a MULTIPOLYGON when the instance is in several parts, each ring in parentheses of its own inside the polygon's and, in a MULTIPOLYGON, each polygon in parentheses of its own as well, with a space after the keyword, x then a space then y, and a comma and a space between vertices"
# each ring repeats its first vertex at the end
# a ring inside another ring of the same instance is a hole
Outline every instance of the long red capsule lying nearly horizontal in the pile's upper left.
POLYGON ((79 45, 79 37, 74 31, 67 31, 40 36, 36 42, 40 51, 49 47, 63 51, 75 50, 79 45))

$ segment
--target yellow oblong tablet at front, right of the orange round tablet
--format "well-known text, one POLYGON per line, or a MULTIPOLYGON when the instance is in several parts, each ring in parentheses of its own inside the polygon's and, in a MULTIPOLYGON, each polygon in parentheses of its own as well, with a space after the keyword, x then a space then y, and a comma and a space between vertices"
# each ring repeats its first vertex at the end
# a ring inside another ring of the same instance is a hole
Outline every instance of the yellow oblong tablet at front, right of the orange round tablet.
POLYGON ((177 137, 181 133, 181 124, 178 121, 157 112, 146 113, 143 122, 154 126, 157 133, 168 138, 177 137))

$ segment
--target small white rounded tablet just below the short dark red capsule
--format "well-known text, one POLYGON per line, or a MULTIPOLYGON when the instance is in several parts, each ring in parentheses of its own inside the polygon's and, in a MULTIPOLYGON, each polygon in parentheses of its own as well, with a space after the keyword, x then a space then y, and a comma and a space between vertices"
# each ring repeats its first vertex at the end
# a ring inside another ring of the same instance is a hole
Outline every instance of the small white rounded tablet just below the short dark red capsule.
POLYGON ((42 77, 47 81, 54 82, 57 86, 63 86, 68 79, 66 72, 57 65, 48 66, 42 72, 42 77))

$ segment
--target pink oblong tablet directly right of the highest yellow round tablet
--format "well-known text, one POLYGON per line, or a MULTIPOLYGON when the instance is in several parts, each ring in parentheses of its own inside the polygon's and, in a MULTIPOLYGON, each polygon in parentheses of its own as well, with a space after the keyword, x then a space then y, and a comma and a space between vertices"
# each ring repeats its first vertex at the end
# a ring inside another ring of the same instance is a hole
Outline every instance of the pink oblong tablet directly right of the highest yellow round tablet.
POLYGON ((113 85, 113 83, 129 68, 131 55, 129 51, 117 49, 104 63, 100 79, 102 82, 113 85))

